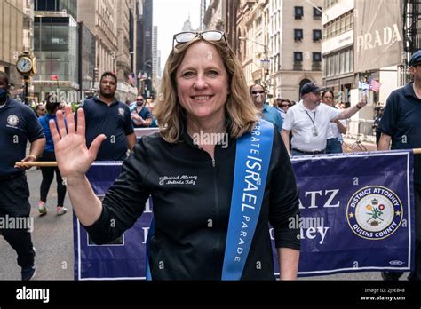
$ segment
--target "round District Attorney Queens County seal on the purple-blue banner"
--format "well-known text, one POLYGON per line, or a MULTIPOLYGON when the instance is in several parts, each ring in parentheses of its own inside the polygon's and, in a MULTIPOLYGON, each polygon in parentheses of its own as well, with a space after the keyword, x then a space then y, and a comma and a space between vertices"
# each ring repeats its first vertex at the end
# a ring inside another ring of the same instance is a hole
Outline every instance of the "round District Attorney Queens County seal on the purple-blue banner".
POLYGON ((355 192, 346 206, 353 233, 369 240, 385 239, 401 226, 401 200, 385 186, 365 186, 355 192))

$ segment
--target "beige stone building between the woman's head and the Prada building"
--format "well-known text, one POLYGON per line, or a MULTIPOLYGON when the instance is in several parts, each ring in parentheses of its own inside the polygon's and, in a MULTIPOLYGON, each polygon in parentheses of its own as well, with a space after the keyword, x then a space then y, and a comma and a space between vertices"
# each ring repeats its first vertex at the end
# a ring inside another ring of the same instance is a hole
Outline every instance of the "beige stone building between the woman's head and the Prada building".
POLYGON ((263 84, 269 99, 291 100, 305 83, 322 84, 321 11, 322 0, 241 1, 236 50, 247 82, 263 84))

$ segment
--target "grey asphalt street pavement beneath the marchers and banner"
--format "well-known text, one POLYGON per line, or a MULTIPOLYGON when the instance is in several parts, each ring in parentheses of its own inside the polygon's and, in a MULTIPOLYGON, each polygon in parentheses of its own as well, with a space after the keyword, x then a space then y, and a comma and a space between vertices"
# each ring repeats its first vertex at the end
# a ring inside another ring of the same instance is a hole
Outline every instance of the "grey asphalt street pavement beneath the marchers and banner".
MULTIPOLYGON (((346 143, 352 145, 352 140, 346 139, 346 143)), ((372 150, 375 147, 366 146, 372 150)), ((34 218, 35 224, 32 240, 36 246, 36 280, 74 280, 72 207, 67 195, 65 207, 68 208, 68 213, 63 216, 56 215, 57 191, 54 180, 47 201, 48 213, 44 217, 39 217, 36 206, 39 201, 41 179, 40 170, 28 170, 31 217, 34 218)), ((16 262, 16 253, 3 237, 0 237, 0 261, 0 280, 20 280, 20 267, 16 262)), ((407 274, 405 274, 406 277, 407 274)), ((381 277, 378 272, 341 273, 300 278, 300 280, 381 280, 381 277)))

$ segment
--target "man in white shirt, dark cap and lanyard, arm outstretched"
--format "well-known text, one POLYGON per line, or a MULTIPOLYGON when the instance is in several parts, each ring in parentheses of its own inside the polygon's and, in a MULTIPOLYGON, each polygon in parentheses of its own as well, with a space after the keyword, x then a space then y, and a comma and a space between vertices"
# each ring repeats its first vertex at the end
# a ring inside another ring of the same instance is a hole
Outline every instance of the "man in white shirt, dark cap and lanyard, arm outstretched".
POLYGON ((357 113, 367 102, 358 102, 353 107, 338 110, 321 102, 321 89, 315 83, 306 83, 301 88, 301 101, 290 107, 282 127, 282 139, 291 155, 317 155, 326 152, 329 123, 346 119, 357 113))

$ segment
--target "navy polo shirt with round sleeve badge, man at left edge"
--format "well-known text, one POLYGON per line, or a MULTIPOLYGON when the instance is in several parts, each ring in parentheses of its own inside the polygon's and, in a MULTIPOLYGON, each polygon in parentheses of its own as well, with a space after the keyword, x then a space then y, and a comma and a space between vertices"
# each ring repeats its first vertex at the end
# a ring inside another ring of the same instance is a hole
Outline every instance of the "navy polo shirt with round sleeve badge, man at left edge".
POLYGON ((44 138, 34 111, 7 98, 0 108, 0 177, 21 173, 14 163, 26 156, 27 142, 44 138))

